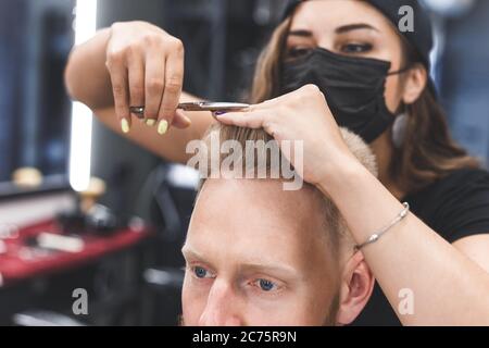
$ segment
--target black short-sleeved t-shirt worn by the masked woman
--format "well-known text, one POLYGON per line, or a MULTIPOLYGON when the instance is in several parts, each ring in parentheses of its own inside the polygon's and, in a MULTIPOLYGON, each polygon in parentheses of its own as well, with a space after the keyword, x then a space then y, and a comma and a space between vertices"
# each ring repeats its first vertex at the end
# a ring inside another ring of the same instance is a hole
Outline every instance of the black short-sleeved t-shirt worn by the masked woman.
MULTIPOLYGON (((453 172, 403 201, 451 244, 467 236, 489 234, 489 173, 486 171, 453 172)), ((353 325, 401 325, 378 284, 353 325)))

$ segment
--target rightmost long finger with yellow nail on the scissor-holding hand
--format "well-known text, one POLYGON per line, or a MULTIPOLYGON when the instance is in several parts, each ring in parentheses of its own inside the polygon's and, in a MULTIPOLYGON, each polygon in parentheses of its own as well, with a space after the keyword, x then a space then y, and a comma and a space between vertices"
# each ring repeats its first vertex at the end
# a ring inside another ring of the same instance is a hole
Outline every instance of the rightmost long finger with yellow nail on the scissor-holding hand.
POLYGON ((184 85, 184 45, 174 39, 168 44, 170 55, 165 66, 165 87, 158 117, 158 133, 163 135, 173 124, 184 85))

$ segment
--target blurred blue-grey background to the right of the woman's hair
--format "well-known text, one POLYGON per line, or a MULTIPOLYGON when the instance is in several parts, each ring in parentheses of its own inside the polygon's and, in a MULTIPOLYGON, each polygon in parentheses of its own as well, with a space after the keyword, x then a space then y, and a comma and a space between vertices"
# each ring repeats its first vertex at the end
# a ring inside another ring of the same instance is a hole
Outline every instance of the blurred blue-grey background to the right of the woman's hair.
POLYGON ((489 1, 447 21, 441 97, 453 136, 489 165, 489 1))

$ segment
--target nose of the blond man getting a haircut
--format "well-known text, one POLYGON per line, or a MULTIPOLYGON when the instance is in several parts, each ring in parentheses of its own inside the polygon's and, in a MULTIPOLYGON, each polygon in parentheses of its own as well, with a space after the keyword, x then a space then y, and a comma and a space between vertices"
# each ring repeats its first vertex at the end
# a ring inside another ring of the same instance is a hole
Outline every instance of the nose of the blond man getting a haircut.
POLYGON ((238 311, 239 298, 233 287, 214 281, 209 291, 208 302, 199 320, 200 326, 242 326, 238 311))

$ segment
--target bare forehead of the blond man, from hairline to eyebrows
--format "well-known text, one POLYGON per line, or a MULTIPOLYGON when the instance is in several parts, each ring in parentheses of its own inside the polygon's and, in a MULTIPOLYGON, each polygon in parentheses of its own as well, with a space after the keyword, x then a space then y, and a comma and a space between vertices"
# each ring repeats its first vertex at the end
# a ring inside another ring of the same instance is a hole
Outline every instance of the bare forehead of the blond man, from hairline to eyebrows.
MULTIPOLYGON (((202 187, 190 222, 188 241, 209 253, 274 252, 303 256, 324 235, 314 192, 284 191, 279 181, 210 179, 202 187)), ((324 250, 324 249, 323 249, 324 250)))

